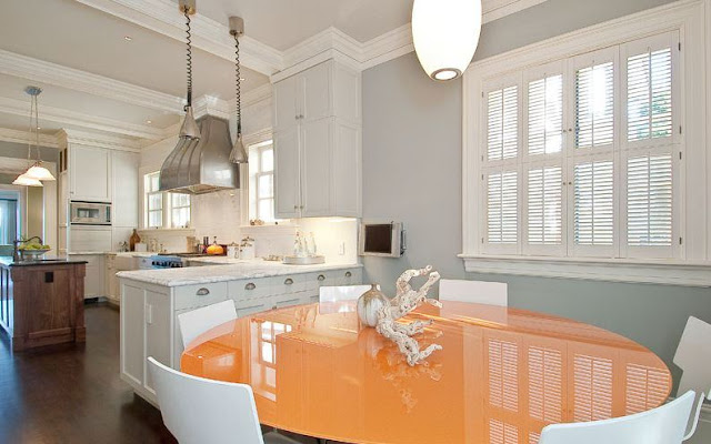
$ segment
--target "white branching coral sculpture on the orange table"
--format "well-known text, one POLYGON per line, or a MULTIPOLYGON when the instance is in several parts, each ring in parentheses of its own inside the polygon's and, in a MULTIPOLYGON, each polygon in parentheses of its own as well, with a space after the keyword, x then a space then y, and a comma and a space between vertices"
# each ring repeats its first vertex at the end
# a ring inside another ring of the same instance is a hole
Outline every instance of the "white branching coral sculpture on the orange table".
POLYGON ((391 300, 390 305, 385 305, 378 311, 378 325, 375 330, 378 333, 398 344, 400 353, 404 354, 408 359, 409 365, 417 365, 429 355, 438 350, 442 350, 441 345, 431 344, 424 350, 420 350, 420 344, 411 336, 422 333, 427 326, 432 323, 429 321, 414 321, 409 324, 401 324, 397 322, 402 316, 405 316, 414 309, 423 303, 428 303, 438 307, 442 304, 433 299, 428 299, 427 293, 432 285, 440 280, 440 274, 432 271, 432 266, 428 265, 424 269, 408 270, 398 278, 397 281, 397 294, 391 300), (429 279, 419 290, 413 290, 410 285, 410 281, 413 278, 424 276, 429 274, 429 279))

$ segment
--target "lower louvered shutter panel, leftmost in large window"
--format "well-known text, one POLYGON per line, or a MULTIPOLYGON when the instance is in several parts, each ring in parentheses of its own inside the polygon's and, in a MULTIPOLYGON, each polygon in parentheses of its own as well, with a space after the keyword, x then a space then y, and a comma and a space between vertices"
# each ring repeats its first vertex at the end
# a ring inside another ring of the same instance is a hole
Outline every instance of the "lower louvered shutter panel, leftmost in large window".
POLYGON ((515 244, 519 235, 519 190, 515 171, 492 173, 487 180, 489 243, 515 244))

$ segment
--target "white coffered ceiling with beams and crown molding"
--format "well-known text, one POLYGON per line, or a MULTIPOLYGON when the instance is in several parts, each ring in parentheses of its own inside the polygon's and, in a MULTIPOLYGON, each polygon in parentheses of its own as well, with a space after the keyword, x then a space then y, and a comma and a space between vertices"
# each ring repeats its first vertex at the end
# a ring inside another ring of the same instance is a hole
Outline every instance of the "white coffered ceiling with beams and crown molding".
MULTIPOLYGON (((484 21, 542 1, 484 0, 484 21)), ((43 88, 43 133, 76 129, 143 144, 169 135, 186 88, 184 19, 177 2, 3 0, 0 139, 27 130, 28 84, 43 88)), ((234 99, 229 16, 246 21, 242 91, 249 94, 268 91, 269 75, 329 49, 361 69, 411 51, 411 8, 412 0, 198 0, 193 97, 234 99)))

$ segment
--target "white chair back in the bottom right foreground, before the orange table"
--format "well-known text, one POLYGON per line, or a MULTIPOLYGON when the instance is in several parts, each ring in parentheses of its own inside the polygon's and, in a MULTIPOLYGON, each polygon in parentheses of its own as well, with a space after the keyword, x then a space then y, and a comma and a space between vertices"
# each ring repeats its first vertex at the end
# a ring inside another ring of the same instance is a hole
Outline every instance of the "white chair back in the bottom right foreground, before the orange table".
POLYGON ((694 397, 690 391, 661 407, 630 416, 548 425, 539 444, 680 444, 694 397))

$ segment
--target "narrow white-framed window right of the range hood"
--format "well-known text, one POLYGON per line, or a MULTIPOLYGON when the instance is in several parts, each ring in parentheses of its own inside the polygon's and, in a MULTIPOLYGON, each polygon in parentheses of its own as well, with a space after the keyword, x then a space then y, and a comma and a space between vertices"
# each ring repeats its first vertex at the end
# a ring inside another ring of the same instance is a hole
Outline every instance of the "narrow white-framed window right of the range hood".
POLYGON ((271 140, 249 147, 249 219, 274 221, 274 148, 271 140))

